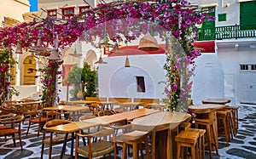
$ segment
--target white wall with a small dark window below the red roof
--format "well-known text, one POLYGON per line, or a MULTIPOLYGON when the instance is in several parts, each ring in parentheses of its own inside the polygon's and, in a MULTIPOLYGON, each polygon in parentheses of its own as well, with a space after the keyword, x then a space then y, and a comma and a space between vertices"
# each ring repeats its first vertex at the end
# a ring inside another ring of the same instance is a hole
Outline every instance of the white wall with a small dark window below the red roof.
POLYGON ((102 97, 165 98, 162 94, 166 73, 166 55, 129 56, 131 67, 125 67, 125 56, 104 58, 108 64, 99 65, 99 95, 102 97), (137 93, 136 77, 144 77, 145 93, 137 93))

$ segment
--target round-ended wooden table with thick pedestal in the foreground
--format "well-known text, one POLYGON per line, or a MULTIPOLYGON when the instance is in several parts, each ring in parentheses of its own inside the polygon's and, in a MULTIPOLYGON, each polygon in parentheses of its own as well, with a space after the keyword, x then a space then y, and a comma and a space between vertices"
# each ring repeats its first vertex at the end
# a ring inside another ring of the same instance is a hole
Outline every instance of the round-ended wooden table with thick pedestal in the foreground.
POLYGON ((151 132, 152 159, 175 158, 175 146, 172 140, 172 130, 191 116, 183 112, 162 111, 135 119, 132 127, 141 131, 151 132), (156 145, 156 142, 158 144, 156 145))

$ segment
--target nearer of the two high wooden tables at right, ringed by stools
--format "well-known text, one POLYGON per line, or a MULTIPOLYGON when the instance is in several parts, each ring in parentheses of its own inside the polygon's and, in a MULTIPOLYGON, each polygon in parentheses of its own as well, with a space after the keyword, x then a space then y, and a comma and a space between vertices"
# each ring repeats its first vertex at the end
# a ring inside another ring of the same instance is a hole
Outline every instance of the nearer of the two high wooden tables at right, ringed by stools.
MULTIPOLYGON (((202 104, 202 105, 190 105, 189 112, 195 114, 205 114, 207 118, 212 118, 214 135, 218 137, 218 125, 217 125, 217 113, 219 109, 224 108, 226 105, 214 105, 214 104, 202 104)), ((216 138, 217 139, 217 138, 216 138)), ((216 141, 216 147, 218 148, 218 139, 216 141)))

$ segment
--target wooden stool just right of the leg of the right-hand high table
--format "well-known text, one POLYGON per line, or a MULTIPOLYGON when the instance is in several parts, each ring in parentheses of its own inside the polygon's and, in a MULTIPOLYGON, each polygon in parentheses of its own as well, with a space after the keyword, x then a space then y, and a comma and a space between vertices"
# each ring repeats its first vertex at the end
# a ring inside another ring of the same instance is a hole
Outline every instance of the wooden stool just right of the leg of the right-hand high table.
POLYGON ((221 110, 217 111, 217 120, 218 120, 218 136, 224 136, 226 139, 227 145, 230 142, 230 133, 231 133, 231 125, 230 125, 230 113, 229 110, 221 110), (223 130, 224 129, 224 130, 223 130), (224 133, 223 133, 224 131, 224 133))

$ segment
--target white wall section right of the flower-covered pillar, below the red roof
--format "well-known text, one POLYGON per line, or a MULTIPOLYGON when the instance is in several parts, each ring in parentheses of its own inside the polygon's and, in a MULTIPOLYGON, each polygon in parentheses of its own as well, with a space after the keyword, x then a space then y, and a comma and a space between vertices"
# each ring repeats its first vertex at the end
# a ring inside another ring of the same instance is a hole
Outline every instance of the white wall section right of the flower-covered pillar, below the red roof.
POLYGON ((224 70, 217 54, 201 54, 195 60, 192 99, 201 104, 202 99, 224 98, 224 70))

